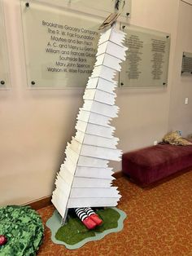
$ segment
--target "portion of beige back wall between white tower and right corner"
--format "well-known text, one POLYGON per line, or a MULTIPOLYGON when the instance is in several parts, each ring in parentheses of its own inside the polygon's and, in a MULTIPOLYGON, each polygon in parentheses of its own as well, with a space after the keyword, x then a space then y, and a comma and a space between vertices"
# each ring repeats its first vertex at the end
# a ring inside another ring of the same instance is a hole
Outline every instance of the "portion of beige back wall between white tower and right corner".
MULTIPOLYGON (((168 131, 168 110, 173 74, 179 1, 137 0, 132 2, 131 24, 171 33, 168 87, 118 90, 120 117, 114 121, 124 152, 152 145, 168 131)), ((120 163, 113 163, 120 170, 120 163)))

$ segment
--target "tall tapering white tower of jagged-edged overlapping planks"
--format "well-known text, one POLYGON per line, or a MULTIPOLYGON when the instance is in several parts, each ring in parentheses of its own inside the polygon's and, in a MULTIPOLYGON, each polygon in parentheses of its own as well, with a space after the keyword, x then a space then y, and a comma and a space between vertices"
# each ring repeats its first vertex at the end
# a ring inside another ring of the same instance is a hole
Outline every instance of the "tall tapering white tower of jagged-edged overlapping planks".
POLYGON ((110 126, 117 117, 115 105, 117 82, 113 79, 125 60, 125 33, 111 28, 101 34, 97 60, 89 77, 76 122, 76 135, 65 150, 66 158, 55 181, 52 202, 66 217, 69 208, 116 206, 120 194, 111 187, 110 160, 120 161, 118 140, 110 126))

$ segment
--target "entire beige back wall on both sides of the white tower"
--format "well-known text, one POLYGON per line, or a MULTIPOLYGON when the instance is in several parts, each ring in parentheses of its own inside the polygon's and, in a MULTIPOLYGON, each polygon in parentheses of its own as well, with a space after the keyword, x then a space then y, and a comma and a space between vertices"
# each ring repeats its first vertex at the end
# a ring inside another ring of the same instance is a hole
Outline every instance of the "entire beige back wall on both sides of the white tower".
MULTIPOLYGON (((67 141, 74 135, 83 90, 27 90, 19 0, 6 1, 11 90, 0 93, 0 205, 51 194, 67 141), (19 28, 19 29, 18 29, 19 28)), ((178 0, 133 0, 131 24, 171 33, 168 88, 118 90, 113 121, 124 152, 150 145, 168 130, 178 0)), ((120 163, 111 163, 120 170, 120 163)))

